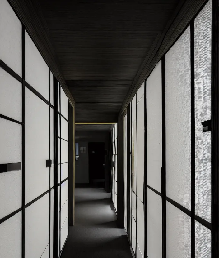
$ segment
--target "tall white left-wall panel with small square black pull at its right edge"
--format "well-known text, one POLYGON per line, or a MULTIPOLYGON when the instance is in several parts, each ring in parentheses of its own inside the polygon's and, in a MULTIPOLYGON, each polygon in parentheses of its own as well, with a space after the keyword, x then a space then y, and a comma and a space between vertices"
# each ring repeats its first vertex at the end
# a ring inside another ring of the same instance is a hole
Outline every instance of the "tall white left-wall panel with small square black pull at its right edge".
POLYGON ((25 89, 25 203, 49 189, 49 106, 25 89))

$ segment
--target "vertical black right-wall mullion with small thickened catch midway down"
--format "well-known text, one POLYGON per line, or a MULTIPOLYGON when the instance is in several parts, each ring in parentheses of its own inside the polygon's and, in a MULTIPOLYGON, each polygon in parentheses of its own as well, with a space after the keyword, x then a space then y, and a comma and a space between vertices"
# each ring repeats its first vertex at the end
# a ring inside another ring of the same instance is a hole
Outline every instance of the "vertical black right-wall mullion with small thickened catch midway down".
POLYGON ((162 101, 162 258, 166 258, 166 113, 165 113, 165 56, 161 59, 161 101, 162 101))

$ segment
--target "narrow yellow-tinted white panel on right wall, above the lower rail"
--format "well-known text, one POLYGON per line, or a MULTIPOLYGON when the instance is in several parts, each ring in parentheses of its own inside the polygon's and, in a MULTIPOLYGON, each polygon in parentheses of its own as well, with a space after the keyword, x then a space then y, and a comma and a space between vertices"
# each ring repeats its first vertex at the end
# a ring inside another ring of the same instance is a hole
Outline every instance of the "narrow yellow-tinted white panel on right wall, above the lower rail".
POLYGON ((137 189, 137 122, 136 122, 136 95, 132 100, 132 189, 137 189))

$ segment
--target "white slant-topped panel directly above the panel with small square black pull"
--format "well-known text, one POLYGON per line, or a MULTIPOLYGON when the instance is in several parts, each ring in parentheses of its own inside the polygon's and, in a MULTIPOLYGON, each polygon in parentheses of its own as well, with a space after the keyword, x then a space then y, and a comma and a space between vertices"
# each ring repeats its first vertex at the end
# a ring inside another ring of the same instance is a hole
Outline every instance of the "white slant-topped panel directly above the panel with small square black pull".
POLYGON ((25 81, 49 101, 49 67, 26 31, 25 81))

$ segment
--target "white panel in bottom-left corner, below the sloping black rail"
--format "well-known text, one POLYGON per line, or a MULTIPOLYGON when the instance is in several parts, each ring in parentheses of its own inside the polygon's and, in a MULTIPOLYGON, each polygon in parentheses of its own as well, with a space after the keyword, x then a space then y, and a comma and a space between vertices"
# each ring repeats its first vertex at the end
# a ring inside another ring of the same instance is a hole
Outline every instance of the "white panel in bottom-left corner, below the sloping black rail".
POLYGON ((21 211, 0 224, 0 257, 21 258, 21 211))

